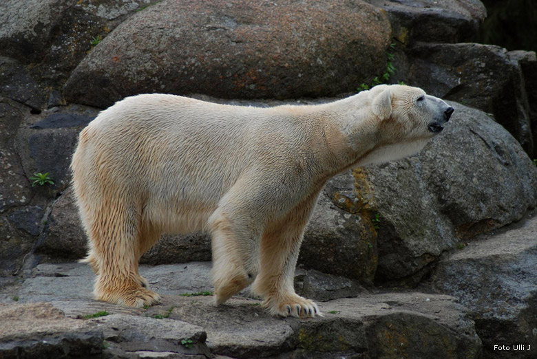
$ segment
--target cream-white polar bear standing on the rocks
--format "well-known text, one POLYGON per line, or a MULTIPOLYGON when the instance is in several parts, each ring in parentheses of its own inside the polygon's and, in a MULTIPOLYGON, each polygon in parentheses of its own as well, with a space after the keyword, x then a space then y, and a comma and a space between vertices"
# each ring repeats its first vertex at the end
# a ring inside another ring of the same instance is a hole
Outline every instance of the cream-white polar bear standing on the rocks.
POLYGON ((145 94, 102 111, 72 159, 94 296, 143 307, 160 296, 138 260, 162 233, 209 232, 215 303, 252 285, 273 315, 319 316, 295 294, 304 227, 330 177, 419 151, 453 108, 379 85, 323 105, 217 105, 145 94))

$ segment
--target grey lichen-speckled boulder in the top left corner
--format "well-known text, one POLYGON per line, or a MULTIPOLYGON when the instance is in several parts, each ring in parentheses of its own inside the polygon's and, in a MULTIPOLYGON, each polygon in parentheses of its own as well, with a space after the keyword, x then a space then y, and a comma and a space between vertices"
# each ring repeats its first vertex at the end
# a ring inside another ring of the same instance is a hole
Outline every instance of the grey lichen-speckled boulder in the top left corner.
MULTIPOLYGON (((39 64, 28 67, 32 77, 58 90, 92 49, 92 42, 105 37, 129 14, 155 2, 1 1, 0 55, 24 65, 39 64)), ((42 90, 43 95, 50 91, 42 90)))

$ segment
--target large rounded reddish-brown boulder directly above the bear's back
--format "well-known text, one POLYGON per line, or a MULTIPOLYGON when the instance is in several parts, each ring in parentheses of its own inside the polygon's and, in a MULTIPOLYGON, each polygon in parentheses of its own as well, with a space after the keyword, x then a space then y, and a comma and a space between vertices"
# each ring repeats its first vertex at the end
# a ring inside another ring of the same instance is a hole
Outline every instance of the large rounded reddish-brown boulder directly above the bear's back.
POLYGON ((65 97, 108 107, 148 92, 333 96, 383 72, 389 42, 388 19, 361 0, 162 1, 94 47, 65 97))

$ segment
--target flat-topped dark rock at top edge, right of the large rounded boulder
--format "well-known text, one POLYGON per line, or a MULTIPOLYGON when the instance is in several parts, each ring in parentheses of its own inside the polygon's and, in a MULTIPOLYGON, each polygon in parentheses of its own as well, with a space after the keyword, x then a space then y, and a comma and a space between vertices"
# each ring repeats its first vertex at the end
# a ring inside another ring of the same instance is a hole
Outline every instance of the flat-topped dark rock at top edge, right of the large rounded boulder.
POLYGON ((487 10, 478 0, 367 0, 388 13, 401 43, 462 43, 476 37, 487 10))

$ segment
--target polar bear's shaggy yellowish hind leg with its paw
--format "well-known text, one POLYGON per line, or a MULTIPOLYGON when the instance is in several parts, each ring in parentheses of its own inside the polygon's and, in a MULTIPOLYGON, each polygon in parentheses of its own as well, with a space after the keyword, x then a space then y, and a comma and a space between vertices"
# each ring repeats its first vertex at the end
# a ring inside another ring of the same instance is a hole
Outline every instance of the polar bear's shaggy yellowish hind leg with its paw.
POLYGON ((138 274, 140 216, 123 203, 111 204, 101 214, 91 235, 99 269, 95 298, 130 307, 160 303, 160 296, 143 287, 138 274))

